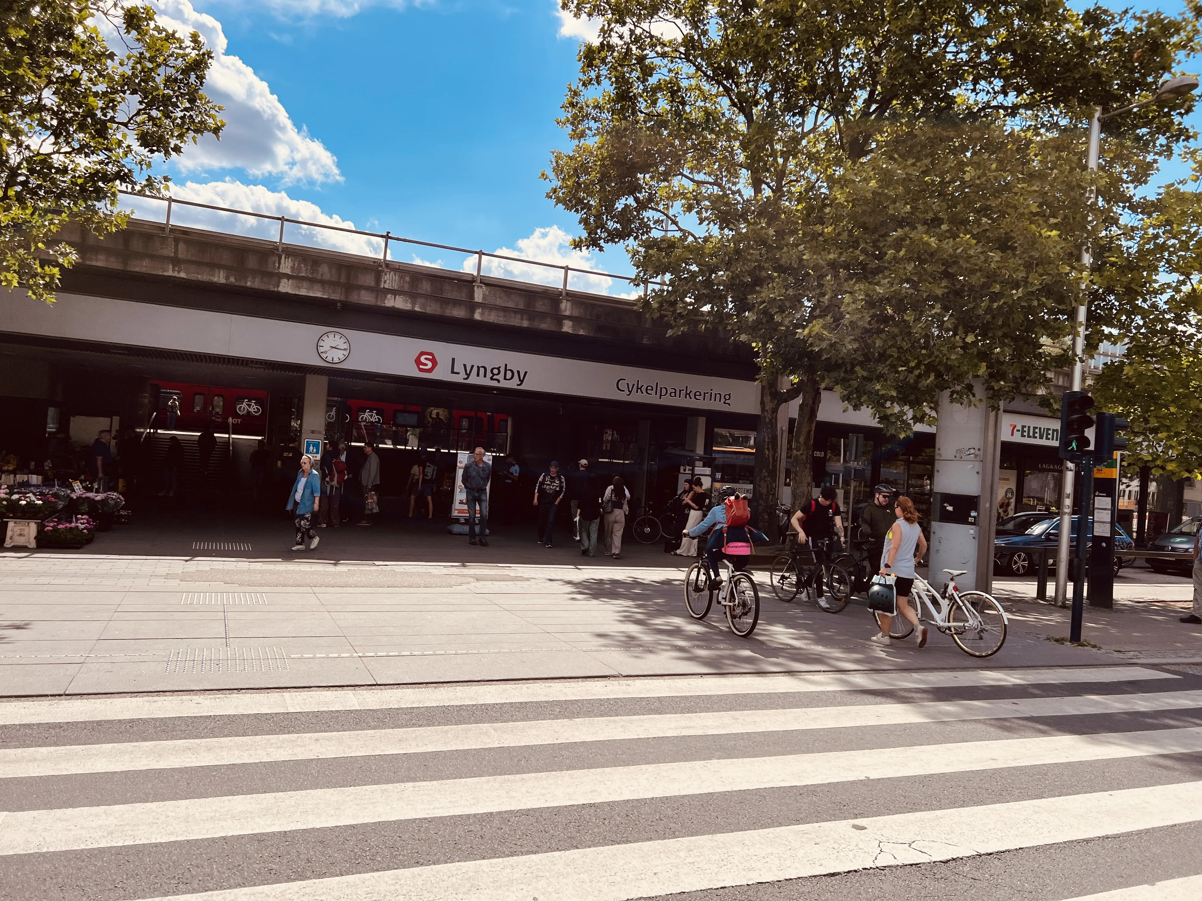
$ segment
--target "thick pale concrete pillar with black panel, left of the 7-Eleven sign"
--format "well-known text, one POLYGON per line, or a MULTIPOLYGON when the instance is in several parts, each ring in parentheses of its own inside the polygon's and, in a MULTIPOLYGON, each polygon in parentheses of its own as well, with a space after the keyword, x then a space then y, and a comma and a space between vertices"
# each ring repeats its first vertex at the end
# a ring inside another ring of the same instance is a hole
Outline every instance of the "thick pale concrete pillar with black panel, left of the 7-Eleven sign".
POLYGON ((966 571, 956 581, 963 590, 989 587, 1000 418, 984 404, 980 384, 976 395, 976 406, 952 404, 946 394, 939 398, 929 569, 936 590, 946 581, 945 568, 966 571))

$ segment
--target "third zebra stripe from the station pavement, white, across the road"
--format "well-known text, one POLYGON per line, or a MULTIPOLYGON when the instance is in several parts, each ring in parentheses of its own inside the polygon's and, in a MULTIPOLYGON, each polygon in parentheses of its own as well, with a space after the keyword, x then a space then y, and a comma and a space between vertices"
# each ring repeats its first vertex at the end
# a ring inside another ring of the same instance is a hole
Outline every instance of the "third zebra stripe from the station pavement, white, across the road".
POLYGON ((689 760, 11 812, 0 854, 34 854, 430 817, 679 798, 1202 751, 1202 727, 689 760), (202 805, 204 816, 197 817, 202 805))

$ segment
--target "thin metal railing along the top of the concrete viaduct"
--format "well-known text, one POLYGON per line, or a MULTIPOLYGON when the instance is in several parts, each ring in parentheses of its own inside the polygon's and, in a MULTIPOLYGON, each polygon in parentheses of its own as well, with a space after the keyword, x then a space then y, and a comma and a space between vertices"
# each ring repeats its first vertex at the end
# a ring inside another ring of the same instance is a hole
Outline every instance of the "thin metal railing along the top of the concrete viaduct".
MULTIPOLYGON (((198 228, 221 234, 244 234, 274 240, 280 253, 284 252, 286 245, 325 247, 375 258, 381 267, 386 267, 388 263, 405 263, 466 273, 477 284, 484 276, 490 276, 558 287, 560 297, 566 297, 569 291, 577 291, 609 299, 633 300, 639 296, 647 297, 648 292, 645 282, 639 282, 629 275, 614 275, 597 269, 560 265, 505 253, 489 253, 484 250, 470 250, 450 244, 403 238, 392 232, 367 232, 332 222, 313 222, 291 216, 276 216, 268 213, 185 201, 178 197, 155 197, 131 191, 120 191, 120 195, 159 204, 157 209, 151 208, 151 210, 133 209, 133 217, 142 221, 161 222, 167 234, 171 233, 172 226, 198 228), (155 211, 159 210, 161 210, 161 217, 155 215, 155 211), (221 227, 222 223, 230 227, 221 227), (394 255, 400 247, 409 249, 413 258, 395 258, 394 255), (429 253, 430 250, 463 253, 463 263, 457 268, 453 264, 444 265, 441 259, 430 262, 421 258, 417 252, 413 252, 413 249, 424 253, 429 253)), ((123 208, 129 209, 124 204, 123 208)))

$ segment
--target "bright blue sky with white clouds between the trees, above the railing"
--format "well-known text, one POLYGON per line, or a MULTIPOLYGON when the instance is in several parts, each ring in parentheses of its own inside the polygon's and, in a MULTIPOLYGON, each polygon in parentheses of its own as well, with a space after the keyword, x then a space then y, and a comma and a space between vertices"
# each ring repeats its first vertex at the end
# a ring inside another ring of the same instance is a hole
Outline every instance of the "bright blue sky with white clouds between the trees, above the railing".
MULTIPOLYGON (((220 143, 167 167, 177 196, 629 272, 620 251, 584 257, 567 249, 575 216, 546 198, 538 179, 551 150, 566 145, 555 117, 587 32, 565 23, 554 0, 153 2, 218 50, 209 93, 230 123, 220 143)), ((417 258, 456 269, 464 262, 434 250, 417 258)), ((495 274, 538 278, 519 269, 494 265, 495 274)))

